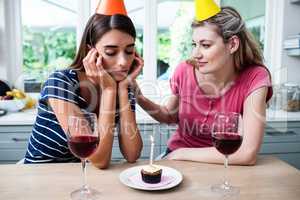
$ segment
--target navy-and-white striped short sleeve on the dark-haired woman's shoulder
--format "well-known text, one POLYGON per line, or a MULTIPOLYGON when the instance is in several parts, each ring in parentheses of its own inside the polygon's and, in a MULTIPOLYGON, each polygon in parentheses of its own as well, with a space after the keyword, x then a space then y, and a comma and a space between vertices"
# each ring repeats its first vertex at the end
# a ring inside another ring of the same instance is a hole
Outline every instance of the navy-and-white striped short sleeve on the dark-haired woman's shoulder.
POLYGON ((78 95, 75 91, 76 86, 71 78, 64 71, 55 71, 43 85, 41 100, 55 98, 78 104, 78 95))

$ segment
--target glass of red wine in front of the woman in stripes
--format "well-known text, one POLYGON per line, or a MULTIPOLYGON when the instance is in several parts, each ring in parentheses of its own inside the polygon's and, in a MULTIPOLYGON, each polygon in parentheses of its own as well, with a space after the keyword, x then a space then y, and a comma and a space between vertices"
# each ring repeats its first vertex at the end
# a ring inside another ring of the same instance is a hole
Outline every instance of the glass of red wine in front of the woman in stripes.
POLYGON ((71 193, 71 199, 97 199, 100 193, 88 187, 86 181, 86 159, 96 151, 100 140, 96 114, 69 116, 67 140, 71 152, 81 160, 83 171, 83 186, 71 193))

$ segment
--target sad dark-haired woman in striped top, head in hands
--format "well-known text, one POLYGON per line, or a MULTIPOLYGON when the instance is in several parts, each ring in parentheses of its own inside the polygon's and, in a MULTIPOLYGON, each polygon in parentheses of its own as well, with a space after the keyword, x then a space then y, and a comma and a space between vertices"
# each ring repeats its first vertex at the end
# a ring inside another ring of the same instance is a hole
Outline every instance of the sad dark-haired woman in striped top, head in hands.
POLYGON ((130 82, 142 70, 143 60, 135 51, 135 37, 125 14, 90 17, 74 62, 52 73, 43 86, 25 163, 73 161, 65 134, 68 117, 84 112, 97 115, 100 141, 89 158, 95 166, 109 166, 116 125, 124 158, 139 158, 142 140, 130 82))

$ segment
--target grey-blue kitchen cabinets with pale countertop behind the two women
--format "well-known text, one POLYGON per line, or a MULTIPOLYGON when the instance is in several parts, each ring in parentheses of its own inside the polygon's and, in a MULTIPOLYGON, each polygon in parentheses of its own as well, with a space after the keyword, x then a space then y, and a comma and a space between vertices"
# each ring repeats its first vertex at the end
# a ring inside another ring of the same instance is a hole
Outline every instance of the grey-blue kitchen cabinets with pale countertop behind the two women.
MULTIPOLYGON (((24 113, 19 115, 24 117, 24 113)), ((300 169, 300 112, 268 112, 268 115, 269 120, 260 154, 274 155, 300 169)), ((25 121, 26 123, 23 124, 18 117, 7 116, 6 119, 1 121, 0 118, 0 163, 15 163, 24 157, 33 119, 32 121, 25 121), (6 119, 17 121, 17 124, 6 119)), ((27 118, 27 120, 29 119, 27 118)), ((165 152, 167 141, 176 130, 176 125, 159 124, 151 119, 139 120, 139 118, 138 127, 144 144, 141 159, 149 158, 150 135, 155 138, 154 157, 157 157, 165 152)), ((112 160, 119 161, 122 159, 118 138, 115 136, 112 160)))

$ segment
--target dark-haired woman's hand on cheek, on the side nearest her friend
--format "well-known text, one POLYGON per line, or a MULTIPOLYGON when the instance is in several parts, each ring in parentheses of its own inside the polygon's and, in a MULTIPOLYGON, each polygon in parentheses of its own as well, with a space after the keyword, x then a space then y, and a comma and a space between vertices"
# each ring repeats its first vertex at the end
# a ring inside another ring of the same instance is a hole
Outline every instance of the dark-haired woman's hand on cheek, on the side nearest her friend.
POLYGON ((130 70, 130 74, 128 74, 128 76, 124 80, 119 82, 119 87, 127 88, 129 85, 134 85, 136 77, 143 70, 144 60, 137 53, 135 54, 133 65, 131 67, 132 69, 130 70))

